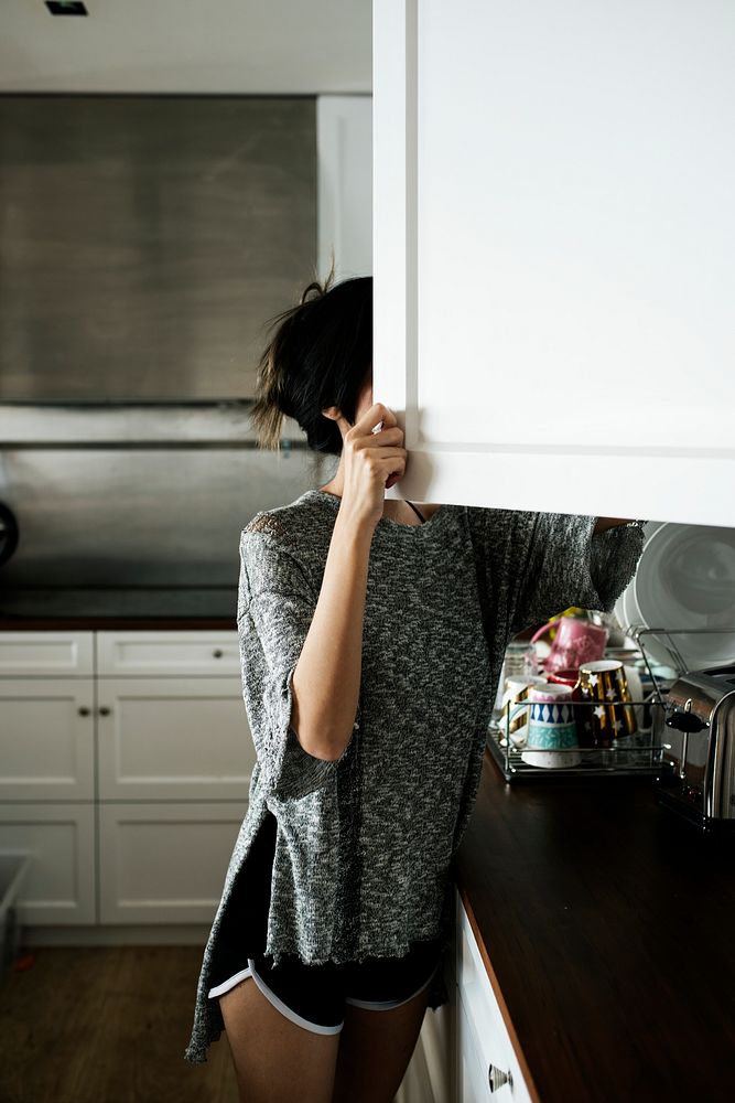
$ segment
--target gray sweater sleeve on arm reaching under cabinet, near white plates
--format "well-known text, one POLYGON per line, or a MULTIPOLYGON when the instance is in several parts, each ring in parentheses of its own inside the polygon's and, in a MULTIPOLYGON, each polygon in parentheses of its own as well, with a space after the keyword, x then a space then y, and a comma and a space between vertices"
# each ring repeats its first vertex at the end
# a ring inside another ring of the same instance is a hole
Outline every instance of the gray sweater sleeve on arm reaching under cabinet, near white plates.
POLYGON ((510 639, 570 606, 609 612, 633 578, 644 524, 594 533, 596 517, 520 510, 468 511, 489 631, 510 639))

